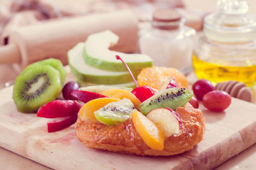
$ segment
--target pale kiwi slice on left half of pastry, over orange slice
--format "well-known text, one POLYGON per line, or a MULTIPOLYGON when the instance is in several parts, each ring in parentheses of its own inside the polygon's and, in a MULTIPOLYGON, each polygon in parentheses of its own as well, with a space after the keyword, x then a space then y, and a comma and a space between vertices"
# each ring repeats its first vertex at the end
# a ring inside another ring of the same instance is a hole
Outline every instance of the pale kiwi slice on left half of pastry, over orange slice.
POLYGON ((132 102, 124 98, 120 101, 106 104, 103 108, 95 111, 94 115, 102 124, 116 125, 127 120, 134 109, 132 102))

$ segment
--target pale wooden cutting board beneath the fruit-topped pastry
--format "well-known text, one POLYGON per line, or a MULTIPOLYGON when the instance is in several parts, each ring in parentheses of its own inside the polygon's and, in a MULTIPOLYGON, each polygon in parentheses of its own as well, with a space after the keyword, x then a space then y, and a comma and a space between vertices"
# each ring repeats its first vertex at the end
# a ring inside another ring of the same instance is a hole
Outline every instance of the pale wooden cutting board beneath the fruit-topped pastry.
POLYGON ((48 133, 47 119, 16 110, 12 87, 0 90, 0 96, 0 146, 53 169, 212 169, 256 142, 256 104, 234 98, 222 113, 202 108, 206 131, 193 150, 139 157, 86 148, 74 125, 48 133))

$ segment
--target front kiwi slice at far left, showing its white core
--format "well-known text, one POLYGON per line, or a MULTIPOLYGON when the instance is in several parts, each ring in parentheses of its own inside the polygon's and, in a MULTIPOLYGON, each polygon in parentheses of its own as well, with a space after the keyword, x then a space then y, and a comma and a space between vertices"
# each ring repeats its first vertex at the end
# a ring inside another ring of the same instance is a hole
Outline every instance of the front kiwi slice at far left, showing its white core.
POLYGON ((17 76, 13 100, 18 111, 33 113, 43 104, 56 99, 60 92, 60 72, 52 66, 38 65, 17 76))

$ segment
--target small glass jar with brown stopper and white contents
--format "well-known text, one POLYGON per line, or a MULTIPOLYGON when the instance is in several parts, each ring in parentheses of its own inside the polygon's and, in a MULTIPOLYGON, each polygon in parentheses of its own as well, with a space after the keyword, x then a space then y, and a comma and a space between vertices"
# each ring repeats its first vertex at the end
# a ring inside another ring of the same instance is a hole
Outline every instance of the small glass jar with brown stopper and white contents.
POLYGON ((154 60, 154 66, 175 67, 186 72, 191 67, 195 29, 184 25, 175 9, 154 11, 150 25, 139 32, 140 52, 154 60))

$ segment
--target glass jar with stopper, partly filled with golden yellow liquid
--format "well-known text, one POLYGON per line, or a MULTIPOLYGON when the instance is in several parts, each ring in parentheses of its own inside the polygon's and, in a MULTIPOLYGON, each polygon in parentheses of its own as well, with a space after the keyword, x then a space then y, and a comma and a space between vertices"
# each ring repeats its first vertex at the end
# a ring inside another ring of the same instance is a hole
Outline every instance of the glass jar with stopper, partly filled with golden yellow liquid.
POLYGON ((196 76, 218 83, 236 80, 256 85, 256 20, 245 0, 219 0, 204 19, 192 57, 196 76))

